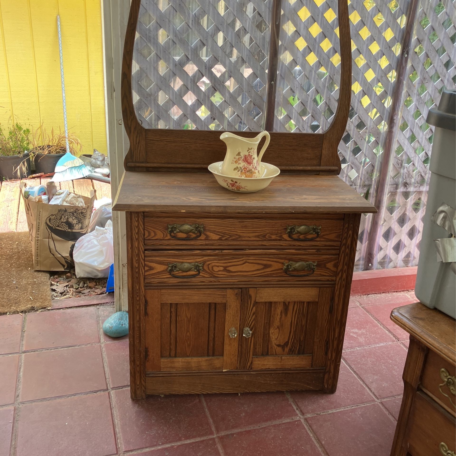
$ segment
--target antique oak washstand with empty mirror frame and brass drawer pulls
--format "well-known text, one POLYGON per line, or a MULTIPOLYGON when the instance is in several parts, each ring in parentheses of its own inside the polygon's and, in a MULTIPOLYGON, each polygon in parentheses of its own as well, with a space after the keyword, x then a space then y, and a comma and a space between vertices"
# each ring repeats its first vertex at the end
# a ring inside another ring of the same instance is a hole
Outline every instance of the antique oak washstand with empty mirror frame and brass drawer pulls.
POLYGON ((150 130, 137 120, 139 10, 133 0, 122 73, 130 150, 113 207, 127 220, 132 398, 334 392, 359 221, 375 212, 338 177, 351 94, 347 2, 338 3, 341 80, 331 127, 271 132, 268 161, 282 173, 244 194, 223 189, 206 169, 223 158, 220 131, 150 130))

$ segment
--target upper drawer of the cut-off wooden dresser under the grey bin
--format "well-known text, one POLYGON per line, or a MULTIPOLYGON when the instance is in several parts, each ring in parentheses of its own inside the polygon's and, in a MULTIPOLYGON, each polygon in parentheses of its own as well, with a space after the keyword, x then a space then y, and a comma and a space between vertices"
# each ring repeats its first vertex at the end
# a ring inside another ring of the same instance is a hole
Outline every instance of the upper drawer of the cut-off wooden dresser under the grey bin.
POLYGON ((421 389, 430 394, 439 404, 455 415, 455 366, 429 351, 423 375, 421 389))

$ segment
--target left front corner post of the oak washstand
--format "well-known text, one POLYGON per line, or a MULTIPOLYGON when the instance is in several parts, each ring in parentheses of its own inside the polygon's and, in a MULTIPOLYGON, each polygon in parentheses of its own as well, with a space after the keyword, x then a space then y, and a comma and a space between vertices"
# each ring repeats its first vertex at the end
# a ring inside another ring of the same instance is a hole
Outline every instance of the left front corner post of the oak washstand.
POLYGON ((144 212, 126 212, 130 394, 145 398, 144 212))

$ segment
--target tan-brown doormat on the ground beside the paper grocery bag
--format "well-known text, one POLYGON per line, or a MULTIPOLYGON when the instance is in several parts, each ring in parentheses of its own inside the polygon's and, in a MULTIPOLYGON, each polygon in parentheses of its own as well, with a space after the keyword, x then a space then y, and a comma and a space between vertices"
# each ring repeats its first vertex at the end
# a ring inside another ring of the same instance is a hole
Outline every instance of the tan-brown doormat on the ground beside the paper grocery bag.
POLYGON ((29 233, 0 233, 0 315, 50 306, 49 274, 33 270, 29 233))

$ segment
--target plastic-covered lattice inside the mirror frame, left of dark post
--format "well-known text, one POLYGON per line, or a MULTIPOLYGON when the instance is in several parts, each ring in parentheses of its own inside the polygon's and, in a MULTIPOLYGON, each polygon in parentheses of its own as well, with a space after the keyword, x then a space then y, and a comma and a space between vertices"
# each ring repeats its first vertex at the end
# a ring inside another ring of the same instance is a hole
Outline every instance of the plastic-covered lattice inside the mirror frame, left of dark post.
POLYGON ((272 0, 142 0, 133 98, 146 128, 264 127, 272 0))

